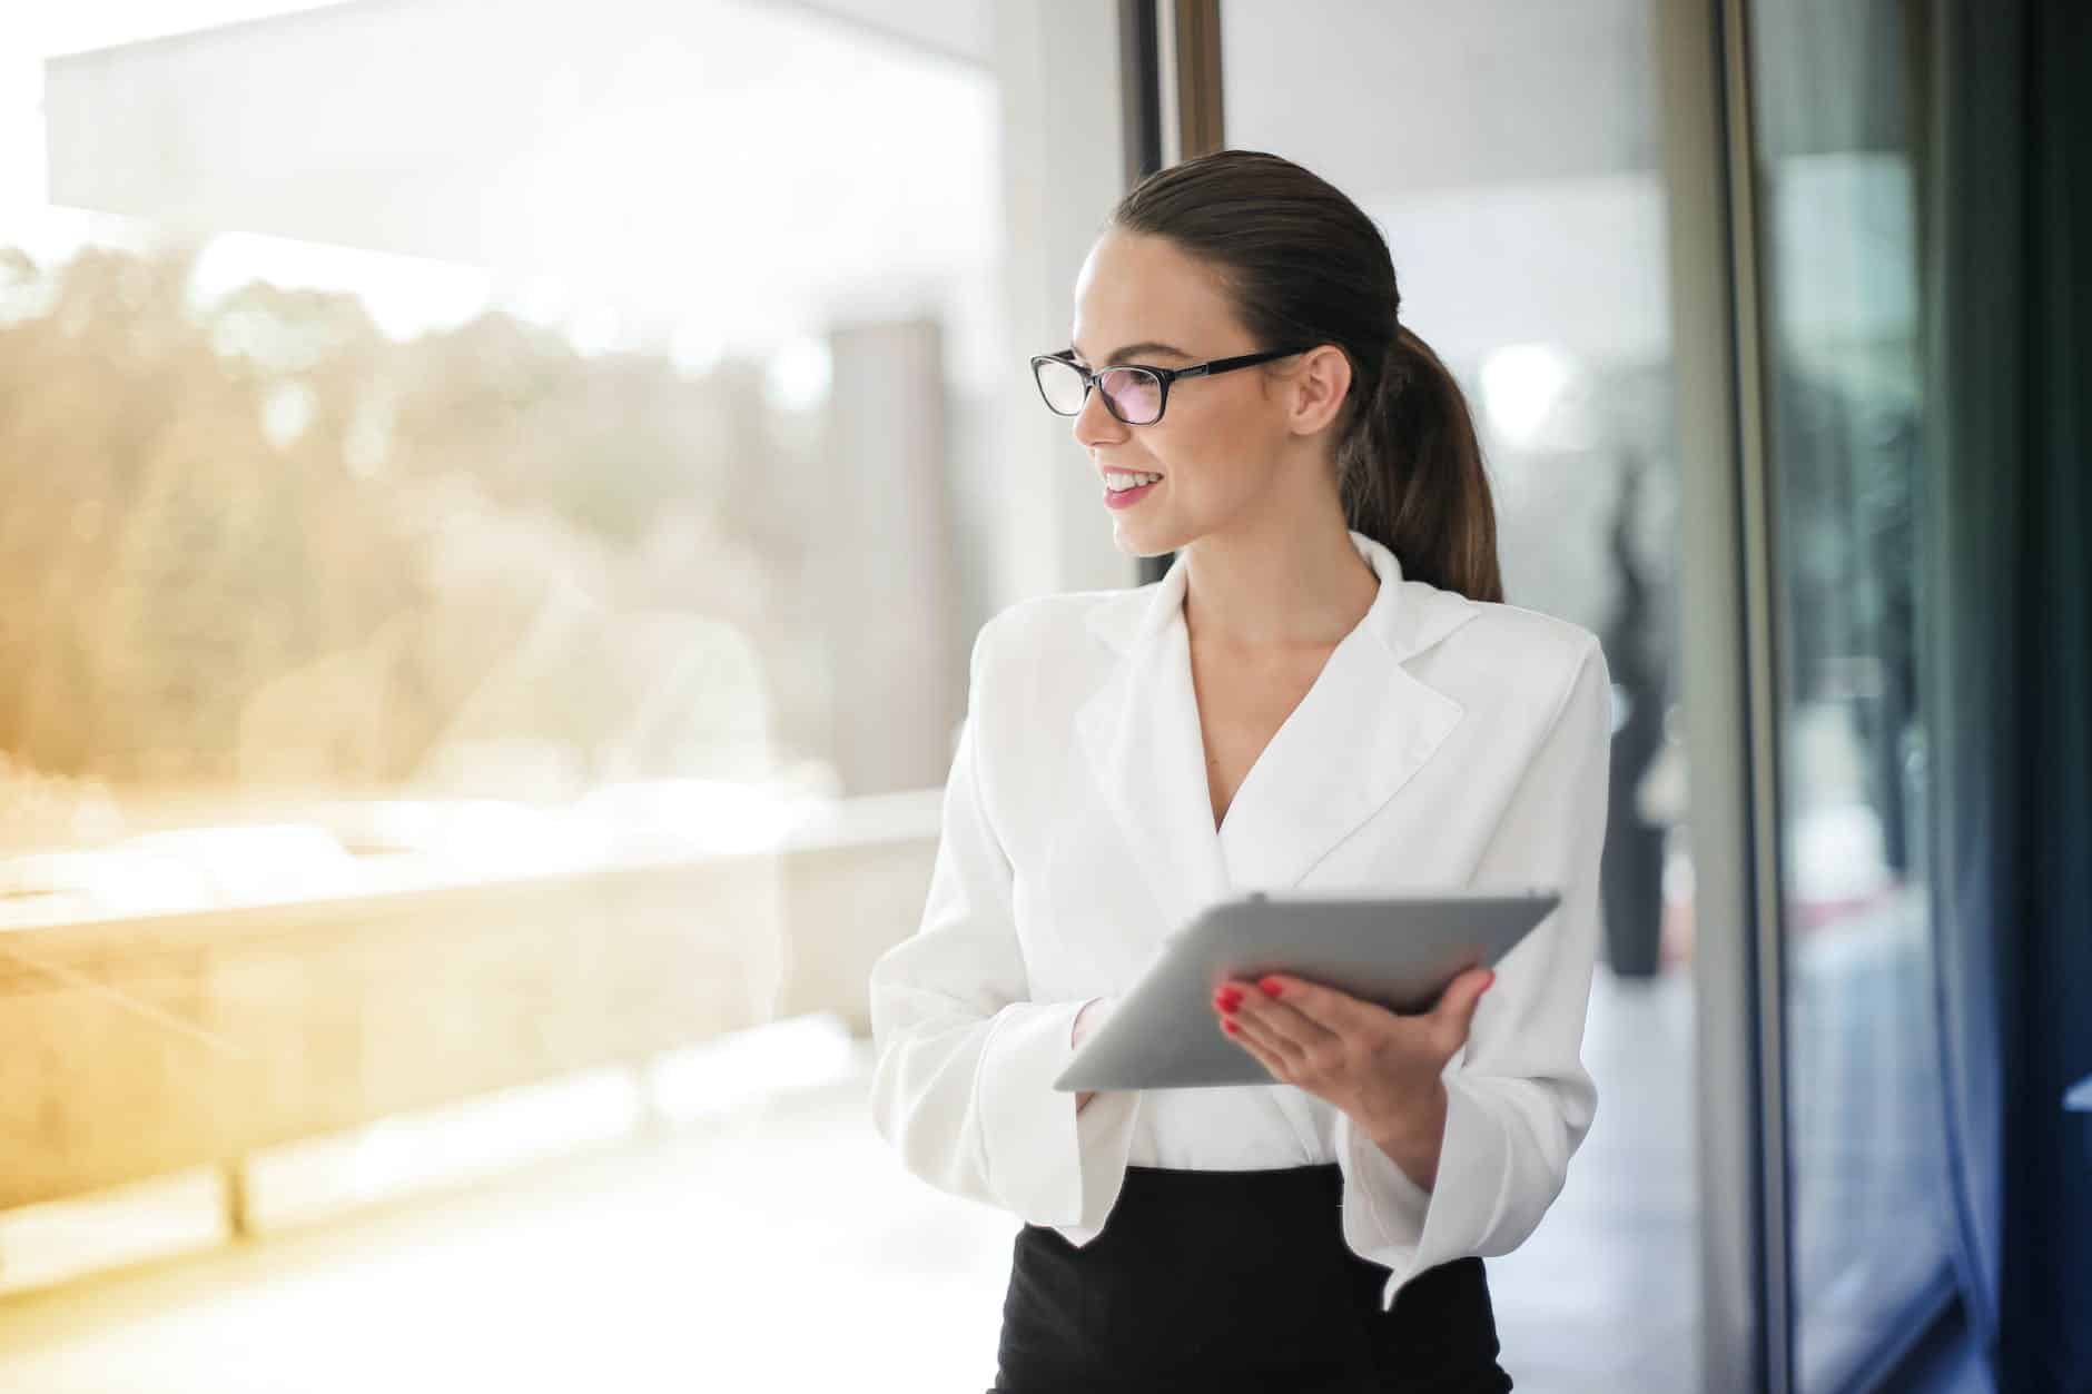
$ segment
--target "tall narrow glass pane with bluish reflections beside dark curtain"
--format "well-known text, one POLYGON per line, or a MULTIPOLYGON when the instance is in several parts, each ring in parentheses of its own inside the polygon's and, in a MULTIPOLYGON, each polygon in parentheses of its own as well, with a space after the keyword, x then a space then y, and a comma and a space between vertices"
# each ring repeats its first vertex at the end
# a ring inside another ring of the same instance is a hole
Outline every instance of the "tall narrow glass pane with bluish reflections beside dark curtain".
POLYGON ((1908 10, 1753 10, 1795 1367, 1801 1390, 1835 1390, 1948 1262, 1914 672, 1908 10))

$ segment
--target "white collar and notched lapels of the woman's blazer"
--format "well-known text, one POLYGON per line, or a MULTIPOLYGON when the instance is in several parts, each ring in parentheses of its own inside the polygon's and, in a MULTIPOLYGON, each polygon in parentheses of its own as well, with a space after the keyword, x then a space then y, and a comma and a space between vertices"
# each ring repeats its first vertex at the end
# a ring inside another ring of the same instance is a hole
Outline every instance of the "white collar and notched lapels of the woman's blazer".
POLYGON ((1184 553, 1159 582, 1090 611, 1092 632, 1121 661, 1077 707, 1075 737, 1167 931, 1230 894, 1297 885, 1460 722, 1460 705, 1404 661, 1466 624, 1473 603, 1404 582, 1393 550, 1349 536, 1381 590, 1251 764, 1218 833, 1184 628, 1184 553))

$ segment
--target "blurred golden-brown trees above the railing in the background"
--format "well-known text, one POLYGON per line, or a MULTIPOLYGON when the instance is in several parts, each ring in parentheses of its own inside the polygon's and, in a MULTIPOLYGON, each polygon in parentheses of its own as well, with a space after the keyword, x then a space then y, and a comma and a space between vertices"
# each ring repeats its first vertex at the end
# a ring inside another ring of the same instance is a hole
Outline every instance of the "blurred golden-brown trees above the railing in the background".
MULTIPOLYGON (((395 343, 354 295, 264 283, 199 308, 195 260, 0 249, 0 751, 121 783, 395 783, 494 720, 490 674, 582 594, 619 661, 567 645, 567 678, 504 684, 494 724, 676 774, 634 760, 703 733, 634 745, 632 693, 803 647, 778 597, 808 544, 787 471, 812 460, 770 440, 753 364, 690 379, 500 312, 395 343)), ((747 701, 692 712, 724 747, 747 701)))

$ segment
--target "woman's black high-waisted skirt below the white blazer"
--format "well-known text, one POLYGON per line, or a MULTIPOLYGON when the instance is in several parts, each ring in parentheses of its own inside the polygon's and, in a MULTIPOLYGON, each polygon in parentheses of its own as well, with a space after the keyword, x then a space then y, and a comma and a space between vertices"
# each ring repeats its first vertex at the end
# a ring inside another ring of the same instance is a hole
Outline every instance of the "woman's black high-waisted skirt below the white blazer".
POLYGON ((1412 1279, 1343 1241, 1335 1162, 1261 1172, 1128 1166, 1088 1245, 1025 1224, 1010 1258, 996 1390, 1111 1394, 1500 1394, 1479 1258, 1412 1279))

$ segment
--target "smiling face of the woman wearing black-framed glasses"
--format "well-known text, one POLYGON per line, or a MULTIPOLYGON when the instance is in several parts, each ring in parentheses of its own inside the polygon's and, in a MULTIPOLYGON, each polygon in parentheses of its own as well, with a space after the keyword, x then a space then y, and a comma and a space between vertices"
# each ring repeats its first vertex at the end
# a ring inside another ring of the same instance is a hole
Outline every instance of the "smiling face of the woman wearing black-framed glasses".
MULTIPOLYGON (((1159 237, 1105 232, 1075 278, 1071 345, 1088 368, 1188 368, 1266 345, 1234 320, 1213 272, 1159 237)), ((1333 345, 1299 358, 1172 383, 1161 421, 1125 425, 1094 387, 1073 419, 1098 469, 1098 500, 1119 550, 1180 550, 1247 519, 1280 521, 1320 486, 1335 498, 1324 427, 1343 406, 1349 364, 1333 345), (1105 471, 1161 479, 1113 500, 1105 471)))

